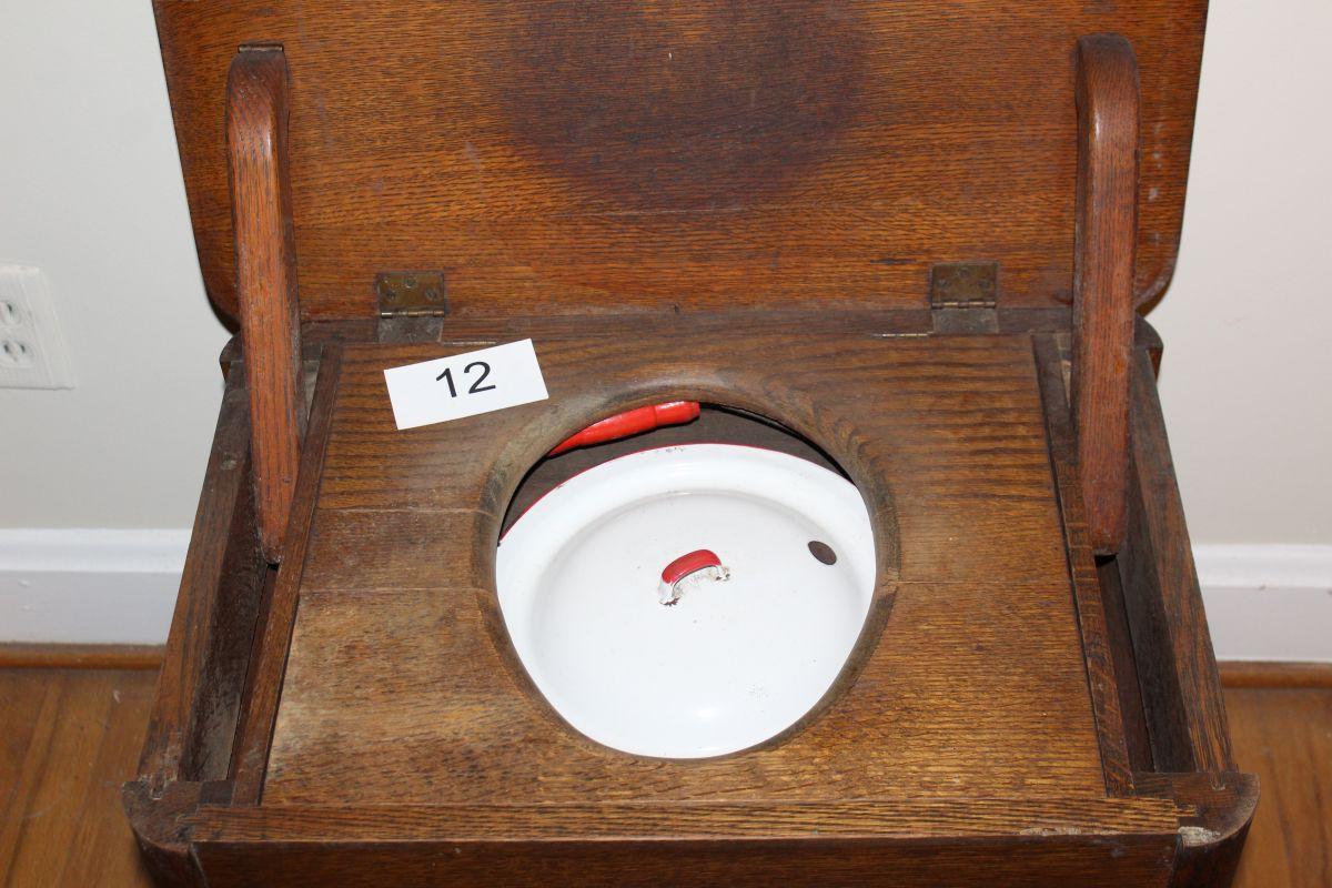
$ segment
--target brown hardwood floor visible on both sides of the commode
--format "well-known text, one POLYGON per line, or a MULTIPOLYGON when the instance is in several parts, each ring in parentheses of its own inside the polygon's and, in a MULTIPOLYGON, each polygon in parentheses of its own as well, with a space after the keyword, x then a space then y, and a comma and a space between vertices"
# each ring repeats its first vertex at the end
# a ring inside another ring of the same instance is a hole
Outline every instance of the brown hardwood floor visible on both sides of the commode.
MULTIPOLYGON (((1259 774, 1263 797, 1236 884, 1329 888, 1332 687, 1251 687, 1247 675, 1225 702, 1236 755, 1259 774)), ((0 668, 0 884, 149 884, 119 793, 156 680, 153 671, 0 668)))

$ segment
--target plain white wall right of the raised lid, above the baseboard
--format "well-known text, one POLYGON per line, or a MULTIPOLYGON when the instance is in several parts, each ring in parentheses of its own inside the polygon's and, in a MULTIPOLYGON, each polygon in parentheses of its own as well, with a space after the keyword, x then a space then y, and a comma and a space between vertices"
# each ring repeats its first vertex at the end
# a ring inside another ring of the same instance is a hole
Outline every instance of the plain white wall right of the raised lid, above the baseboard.
POLYGON ((1212 0, 1179 268, 1150 316, 1196 543, 1332 543, 1329 40, 1329 0, 1212 0))

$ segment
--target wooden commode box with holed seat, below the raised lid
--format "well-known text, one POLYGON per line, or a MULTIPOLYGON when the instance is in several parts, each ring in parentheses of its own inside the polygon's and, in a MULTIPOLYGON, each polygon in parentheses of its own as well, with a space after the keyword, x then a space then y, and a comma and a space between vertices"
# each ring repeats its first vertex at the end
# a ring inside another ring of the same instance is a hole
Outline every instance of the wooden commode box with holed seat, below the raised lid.
MULTIPOLYGON (((188 571, 172 678, 125 793, 149 859, 212 885, 334 872, 758 884, 778 871, 858 884, 886 869, 899 884, 1223 884, 1256 787, 1213 746, 1215 666, 1179 668, 1205 626, 1136 623, 1192 612, 1191 575, 1163 586, 1156 560, 1187 555, 1187 538, 1139 510, 1140 542, 1094 562, 1067 341, 1052 332, 1066 320, 936 337, 910 314, 659 332, 460 318, 417 345, 312 325, 306 357, 324 357, 280 570, 238 519, 245 485, 229 473, 244 459, 209 471, 190 559, 213 572, 188 571), (523 335, 549 402, 393 429, 384 367, 523 335), (759 411, 814 442, 866 494, 879 551, 874 614, 829 698, 759 750, 694 763, 569 730, 494 603, 494 541, 527 469, 581 425, 663 397, 759 411)), ((241 395, 224 406, 222 450, 244 441, 241 395)), ((1162 434, 1152 407, 1135 403, 1135 478, 1177 498, 1142 441, 1162 434)))

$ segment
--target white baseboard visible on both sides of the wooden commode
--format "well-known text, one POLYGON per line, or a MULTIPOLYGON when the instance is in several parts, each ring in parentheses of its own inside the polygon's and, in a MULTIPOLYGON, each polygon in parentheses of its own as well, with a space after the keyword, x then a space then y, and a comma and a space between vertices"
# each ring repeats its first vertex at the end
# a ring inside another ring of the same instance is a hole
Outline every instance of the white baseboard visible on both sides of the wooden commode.
MULTIPOLYGON (((0 529, 0 642, 161 644, 186 530, 0 529)), ((1332 546, 1195 550, 1220 660, 1332 663, 1332 546)))

